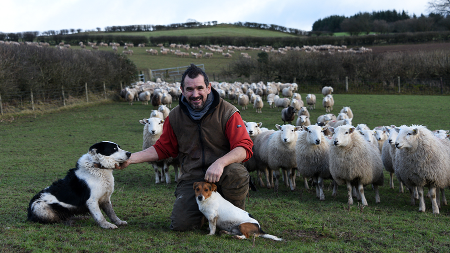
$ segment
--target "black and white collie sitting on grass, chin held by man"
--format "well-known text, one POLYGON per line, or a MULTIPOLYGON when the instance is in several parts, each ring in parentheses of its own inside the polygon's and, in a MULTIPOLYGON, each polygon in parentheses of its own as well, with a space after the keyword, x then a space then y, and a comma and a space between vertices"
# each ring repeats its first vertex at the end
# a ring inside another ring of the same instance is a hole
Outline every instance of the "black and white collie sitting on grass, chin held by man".
POLYGON ((75 216, 90 213, 101 228, 116 229, 126 225, 115 215, 110 197, 114 191, 112 170, 115 164, 123 163, 130 155, 113 142, 92 145, 65 178, 53 182, 31 199, 28 220, 44 224, 67 222, 75 216), (115 225, 105 220, 100 209, 115 225))

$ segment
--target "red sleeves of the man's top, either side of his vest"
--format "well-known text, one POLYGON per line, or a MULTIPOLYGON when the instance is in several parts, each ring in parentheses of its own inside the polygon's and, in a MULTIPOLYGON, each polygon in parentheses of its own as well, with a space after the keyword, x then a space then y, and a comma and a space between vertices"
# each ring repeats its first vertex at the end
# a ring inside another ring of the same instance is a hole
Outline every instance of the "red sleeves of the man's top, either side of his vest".
MULTIPOLYGON (((253 142, 248 136, 245 125, 243 124, 242 118, 240 117, 239 113, 234 113, 226 122, 225 136, 229 140, 230 151, 235 147, 243 147, 246 151, 246 158, 242 162, 250 159, 250 157, 253 155, 253 152, 251 151, 253 142)), ((153 145, 153 147, 158 154, 159 160, 168 157, 176 157, 178 155, 178 141, 168 121, 168 117, 165 119, 164 125, 162 127, 162 134, 153 145)))

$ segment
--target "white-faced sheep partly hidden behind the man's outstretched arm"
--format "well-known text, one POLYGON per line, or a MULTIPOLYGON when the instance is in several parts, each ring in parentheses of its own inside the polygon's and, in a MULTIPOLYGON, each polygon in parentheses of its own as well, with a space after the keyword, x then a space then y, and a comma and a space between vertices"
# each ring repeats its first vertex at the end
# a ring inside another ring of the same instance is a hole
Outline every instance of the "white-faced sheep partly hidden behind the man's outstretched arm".
MULTIPOLYGON (((143 142, 142 150, 154 145, 162 134, 162 125, 164 120, 159 118, 150 117, 148 119, 139 120, 143 127, 143 142)), ((168 173, 168 166, 172 165, 175 169, 175 182, 178 182, 178 166, 179 162, 177 158, 162 159, 155 162, 149 162, 153 166, 155 174, 155 183, 161 182, 161 177, 165 175, 165 183, 170 184, 170 175, 168 173), (162 167, 162 175, 159 172, 159 167, 162 167)))

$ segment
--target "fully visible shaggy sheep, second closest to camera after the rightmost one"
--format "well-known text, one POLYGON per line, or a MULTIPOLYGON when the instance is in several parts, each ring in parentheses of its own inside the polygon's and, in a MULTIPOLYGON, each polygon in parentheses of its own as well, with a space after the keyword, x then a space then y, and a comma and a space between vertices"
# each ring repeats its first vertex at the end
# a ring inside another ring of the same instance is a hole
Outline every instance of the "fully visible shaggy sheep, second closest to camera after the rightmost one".
POLYGON ((367 206, 364 185, 372 184, 375 202, 380 203, 378 186, 383 185, 383 165, 378 151, 352 125, 328 127, 334 133, 329 149, 329 171, 338 185, 346 184, 348 204, 353 204, 352 185, 358 188, 362 206, 367 206))

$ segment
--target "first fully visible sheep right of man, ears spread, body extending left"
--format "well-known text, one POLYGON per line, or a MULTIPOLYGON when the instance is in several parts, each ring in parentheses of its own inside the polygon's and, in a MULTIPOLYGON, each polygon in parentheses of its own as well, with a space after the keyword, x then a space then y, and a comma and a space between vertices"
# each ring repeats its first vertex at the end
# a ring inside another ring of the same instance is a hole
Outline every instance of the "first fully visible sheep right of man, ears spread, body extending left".
MULTIPOLYGON (((299 126, 275 125, 277 131, 268 130, 260 133, 253 141, 253 155, 267 168, 270 184, 274 191, 278 191, 279 168, 283 170, 284 184, 295 189, 295 141, 299 126), (275 183, 273 184, 272 172, 275 172, 275 183)), ((266 175, 267 175, 266 174, 266 175)), ((269 187, 267 185, 267 187, 269 187)))

